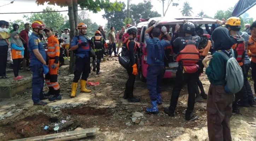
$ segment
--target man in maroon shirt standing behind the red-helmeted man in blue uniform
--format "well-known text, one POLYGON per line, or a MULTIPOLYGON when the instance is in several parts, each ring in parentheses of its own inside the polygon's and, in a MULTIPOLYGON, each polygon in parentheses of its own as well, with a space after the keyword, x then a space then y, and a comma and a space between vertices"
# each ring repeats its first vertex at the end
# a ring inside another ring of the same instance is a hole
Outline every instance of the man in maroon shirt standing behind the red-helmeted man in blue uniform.
POLYGON ((29 52, 28 52, 28 38, 29 38, 29 30, 30 30, 30 23, 24 24, 25 29, 19 33, 19 36, 21 36, 25 43, 23 43, 24 50, 24 58, 22 62, 23 70, 27 70, 27 66, 29 65, 29 52))

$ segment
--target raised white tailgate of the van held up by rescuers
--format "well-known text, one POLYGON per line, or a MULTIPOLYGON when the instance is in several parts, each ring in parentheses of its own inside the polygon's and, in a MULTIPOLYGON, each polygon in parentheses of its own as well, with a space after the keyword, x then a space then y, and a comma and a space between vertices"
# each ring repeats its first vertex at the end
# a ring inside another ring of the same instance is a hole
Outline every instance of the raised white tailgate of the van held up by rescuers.
POLYGON ((150 18, 149 23, 152 20, 160 20, 163 25, 168 24, 184 24, 184 20, 187 19, 189 22, 192 22, 194 24, 217 24, 216 19, 210 19, 210 18, 202 18, 202 17, 156 17, 156 18, 150 18))

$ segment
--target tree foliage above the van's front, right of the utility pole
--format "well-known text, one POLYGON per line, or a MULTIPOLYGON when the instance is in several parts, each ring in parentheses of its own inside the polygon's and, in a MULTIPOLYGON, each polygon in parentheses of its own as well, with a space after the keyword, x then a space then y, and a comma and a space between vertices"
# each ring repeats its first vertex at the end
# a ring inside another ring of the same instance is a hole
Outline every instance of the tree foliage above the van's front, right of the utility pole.
POLYGON ((130 5, 130 14, 132 19, 132 24, 136 25, 140 22, 140 18, 153 18, 153 17, 161 17, 157 11, 152 11, 153 5, 151 1, 140 2, 138 5, 131 4, 130 5))

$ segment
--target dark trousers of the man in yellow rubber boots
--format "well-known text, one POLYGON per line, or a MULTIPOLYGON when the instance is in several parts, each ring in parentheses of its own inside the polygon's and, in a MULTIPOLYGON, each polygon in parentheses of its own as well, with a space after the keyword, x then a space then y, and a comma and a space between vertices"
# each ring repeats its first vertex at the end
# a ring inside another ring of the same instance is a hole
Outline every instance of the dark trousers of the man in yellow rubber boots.
POLYGON ((76 66, 74 71, 75 76, 74 76, 73 82, 77 83, 81 77, 81 74, 82 74, 81 79, 87 81, 89 73, 91 71, 90 63, 91 63, 91 58, 86 56, 83 58, 76 56, 76 62, 75 62, 76 66))

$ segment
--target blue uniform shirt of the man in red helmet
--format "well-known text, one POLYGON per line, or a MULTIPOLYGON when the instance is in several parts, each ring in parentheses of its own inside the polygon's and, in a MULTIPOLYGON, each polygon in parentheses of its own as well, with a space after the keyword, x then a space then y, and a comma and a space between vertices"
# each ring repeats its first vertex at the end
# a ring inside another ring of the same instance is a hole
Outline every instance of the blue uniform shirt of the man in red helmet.
POLYGON ((38 49, 43 59, 46 61, 46 52, 43 48, 43 43, 35 33, 32 33, 28 39, 28 50, 30 54, 30 66, 42 64, 35 56, 33 50, 38 49))

